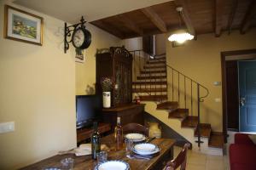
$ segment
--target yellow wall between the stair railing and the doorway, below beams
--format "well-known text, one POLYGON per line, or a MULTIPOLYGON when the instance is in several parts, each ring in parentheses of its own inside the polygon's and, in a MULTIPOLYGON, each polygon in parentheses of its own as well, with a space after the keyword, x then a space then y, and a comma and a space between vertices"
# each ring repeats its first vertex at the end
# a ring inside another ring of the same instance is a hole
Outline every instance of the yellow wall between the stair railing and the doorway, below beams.
POLYGON ((255 37, 256 29, 245 35, 239 31, 232 31, 230 36, 224 32, 221 37, 206 34, 177 48, 172 48, 166 37, 167 64, 209 88, 201 120, 211 123, 213 131, 222 132, 222 102, 215 102, 216 98, 222 98, 222 87, 213 85, 221 82, 220 52, 256 48, 255 37))

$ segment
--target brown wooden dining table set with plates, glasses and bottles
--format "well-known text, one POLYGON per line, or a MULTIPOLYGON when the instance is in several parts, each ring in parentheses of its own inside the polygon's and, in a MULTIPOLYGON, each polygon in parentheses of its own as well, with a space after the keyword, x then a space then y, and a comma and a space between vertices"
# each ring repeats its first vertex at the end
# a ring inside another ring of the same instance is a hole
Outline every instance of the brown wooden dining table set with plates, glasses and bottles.
MULTIPOLYGON (((154 139, 150 142, 156 144, 160 148, 160 153, 154 156, 150 160, 128 158, 125 152, 125 144, 122 150, 115 149, 115 142, 113 134, 110 134, 101 139, 101 144, 108 146, 108 160, 122 160, 126 161, 131 170, 158 170, 162 169, 167 161, 171 161, 173 158, 173 145, 175 139, 154 139)), ((91 156, 75 156, 74 154, 64 154, 49 157, 43 161, 39 161, 27 167, 21 169, 35 170, 44 169, 47 167, 61 167, 61 160, 67 157, 74 159, 73 170, 93 170, 96 167, 97 161, 93 160, 91 156)))

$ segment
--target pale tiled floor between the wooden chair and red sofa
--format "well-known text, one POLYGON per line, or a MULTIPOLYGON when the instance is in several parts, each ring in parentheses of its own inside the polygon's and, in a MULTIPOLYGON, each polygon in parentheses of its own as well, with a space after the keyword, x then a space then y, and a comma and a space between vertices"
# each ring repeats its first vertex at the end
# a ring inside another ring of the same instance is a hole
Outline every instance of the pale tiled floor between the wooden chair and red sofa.
MULTIPOLYGON (((174 157, 182 148, 174 147, 174 157)), ((209 156, 189 150, 186 170, 228 170, 228 156, 209 156)))

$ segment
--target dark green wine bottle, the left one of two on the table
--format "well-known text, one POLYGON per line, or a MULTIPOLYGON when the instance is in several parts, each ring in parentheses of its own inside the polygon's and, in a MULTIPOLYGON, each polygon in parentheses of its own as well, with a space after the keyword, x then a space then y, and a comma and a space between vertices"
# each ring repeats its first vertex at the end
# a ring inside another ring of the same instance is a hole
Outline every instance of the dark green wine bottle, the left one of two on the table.
POLYGON ((96 153, 101 151, 100 133, 98 133, 98 123, 93 122, 93 133, 91 134, 91 157, 96 159, 96 153))

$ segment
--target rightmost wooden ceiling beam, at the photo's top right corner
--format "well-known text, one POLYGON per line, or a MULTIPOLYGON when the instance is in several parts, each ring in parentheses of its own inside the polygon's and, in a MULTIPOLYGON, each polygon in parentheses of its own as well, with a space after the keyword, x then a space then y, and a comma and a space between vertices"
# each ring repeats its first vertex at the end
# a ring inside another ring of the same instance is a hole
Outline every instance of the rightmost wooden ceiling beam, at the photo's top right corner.
POLYGON ((241 29, 240 29, 241 34, 245 34, 246 31, 251 26, 251 21, 253 19, 253 16, 255 15, 255 10, 256 10, 256 1, 251 0, 251 3, 248 5, 248 8, 247 8, 247 13, 245 14, 241 23, 241 29))

